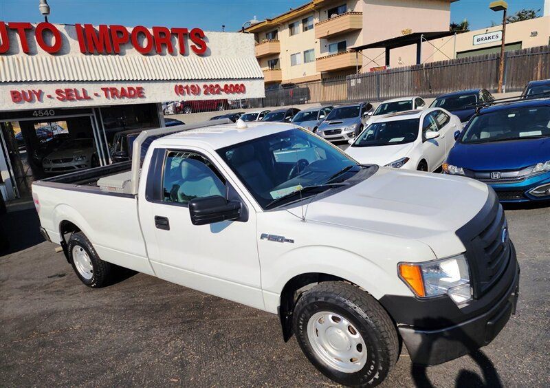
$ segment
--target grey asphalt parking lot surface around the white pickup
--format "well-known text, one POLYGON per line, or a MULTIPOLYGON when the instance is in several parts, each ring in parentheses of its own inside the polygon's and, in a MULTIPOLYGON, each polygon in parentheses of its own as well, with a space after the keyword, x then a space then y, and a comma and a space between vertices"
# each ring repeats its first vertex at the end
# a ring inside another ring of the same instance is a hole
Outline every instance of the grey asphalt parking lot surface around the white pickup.
MULTIPOLYGON (((404 349, 382 387, 550 385, 550 207, 506 215, 521 267, 517 314, 490 345, 443 365, 412 368, 404 349)), ((92 290, 39 242, 34 210, 8 216, 19 240, 0 257, 3 387, 334 386, 294 338, 283 343, 277 316, 145 274, 92 290)))

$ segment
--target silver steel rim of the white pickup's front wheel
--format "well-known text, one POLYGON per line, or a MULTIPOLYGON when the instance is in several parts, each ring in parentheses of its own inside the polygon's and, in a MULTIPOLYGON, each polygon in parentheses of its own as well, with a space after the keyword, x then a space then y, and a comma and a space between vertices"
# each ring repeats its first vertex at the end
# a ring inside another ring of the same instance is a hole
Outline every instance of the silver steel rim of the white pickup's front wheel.
POLYGON ((335 312, 317 312, 307 322, 307 337, 316 356, 344 373, 355 373, 366 364, 366 345, 350 321, 335 312))

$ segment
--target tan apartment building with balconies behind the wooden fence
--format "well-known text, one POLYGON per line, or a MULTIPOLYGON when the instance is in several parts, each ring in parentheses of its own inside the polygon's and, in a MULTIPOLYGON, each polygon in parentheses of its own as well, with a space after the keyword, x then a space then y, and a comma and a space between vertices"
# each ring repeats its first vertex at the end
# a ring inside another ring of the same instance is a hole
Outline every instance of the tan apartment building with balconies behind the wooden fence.
MULTIPOLYGON (((384 49, 349 49, 410 32, 445 31, 454 0, 312 0, 250 25, 267 88, 369 71, 384 65, 384 49)), ((422 56, 432 50, 426 47, 422 56)), ((392 52, 391 66, 412 65, 415 47, 392 52)))

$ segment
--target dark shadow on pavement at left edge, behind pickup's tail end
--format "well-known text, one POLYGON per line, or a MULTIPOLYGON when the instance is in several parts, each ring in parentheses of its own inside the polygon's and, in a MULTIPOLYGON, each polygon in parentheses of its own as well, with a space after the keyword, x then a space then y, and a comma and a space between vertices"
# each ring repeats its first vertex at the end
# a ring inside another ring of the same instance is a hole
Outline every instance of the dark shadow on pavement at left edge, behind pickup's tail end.
POLYGON ((43 242, 39 228, 39 215, 34 208, 0 215, 0 256, 43 242))

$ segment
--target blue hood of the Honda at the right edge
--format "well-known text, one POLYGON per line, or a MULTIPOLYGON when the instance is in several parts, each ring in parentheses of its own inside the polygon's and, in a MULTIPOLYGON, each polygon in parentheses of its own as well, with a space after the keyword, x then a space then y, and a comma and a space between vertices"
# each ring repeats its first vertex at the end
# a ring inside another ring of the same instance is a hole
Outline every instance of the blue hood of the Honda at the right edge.
POLYGON ((517 170, 550 160, 550 138, 456 143, 447 161, 474 171, 517 170))

